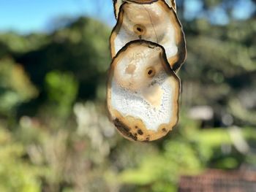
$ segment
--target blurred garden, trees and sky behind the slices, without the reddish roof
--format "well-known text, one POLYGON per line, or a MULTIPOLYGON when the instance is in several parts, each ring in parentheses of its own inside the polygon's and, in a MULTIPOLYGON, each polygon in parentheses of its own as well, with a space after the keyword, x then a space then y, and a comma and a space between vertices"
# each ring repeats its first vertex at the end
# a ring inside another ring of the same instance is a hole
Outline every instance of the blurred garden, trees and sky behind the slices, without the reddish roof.
POLYGON ((256 6, 176 0, 187 36, 180 120, 129 142, 109 122, 111 0, 0 0, 0 191, 177 191, 181 175, 256 169, 256 6))

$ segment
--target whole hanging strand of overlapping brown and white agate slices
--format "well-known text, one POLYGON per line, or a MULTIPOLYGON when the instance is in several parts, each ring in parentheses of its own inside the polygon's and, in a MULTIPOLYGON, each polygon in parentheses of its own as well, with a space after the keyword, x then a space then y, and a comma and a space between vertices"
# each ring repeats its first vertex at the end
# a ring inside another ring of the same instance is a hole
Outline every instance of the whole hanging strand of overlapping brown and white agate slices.
POLYGON ((178 122, 186 59, 175 0, 114 0, 107 104, 118 132, 132 141, 165 137, 178 122))

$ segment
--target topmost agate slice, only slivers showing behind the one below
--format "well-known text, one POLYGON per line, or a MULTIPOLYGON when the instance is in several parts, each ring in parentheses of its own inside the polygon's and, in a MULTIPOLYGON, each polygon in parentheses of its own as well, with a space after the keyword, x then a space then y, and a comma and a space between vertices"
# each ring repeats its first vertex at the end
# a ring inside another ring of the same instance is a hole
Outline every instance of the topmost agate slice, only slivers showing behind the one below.
MULTIPOLYGON (((118 18, 119 9, 125 1, 135 2, 135 3, 152 3, 157 0, 113 0, 115 16, 118 18)), ((169 7, 173 7, 176 11, 176 0, 165 0, 169 7)))

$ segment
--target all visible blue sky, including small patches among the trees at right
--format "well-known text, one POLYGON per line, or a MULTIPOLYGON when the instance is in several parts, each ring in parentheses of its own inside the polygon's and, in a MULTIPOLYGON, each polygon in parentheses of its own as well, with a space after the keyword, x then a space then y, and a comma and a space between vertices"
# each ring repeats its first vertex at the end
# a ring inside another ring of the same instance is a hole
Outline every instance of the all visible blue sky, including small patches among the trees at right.
MULTIPOLYGON (((178 0, 176 0, 178 1, 178 0)), ((233 15, 246 19, 255 9, 251 0, 238 0, 233 15)), ((185 18, 195 18, 202 4, 200 0, 185 0, 185 18)), ((67 16, 91 16, 113 26, 112 0, 0 0, 0 31, 18 31, 23 34, 32 31, 47 31, 51 20, 67 16), (95 3, 99 2, 99 4, 95 3)), ((210 20, 219 24, 228 23, 227 15, 216 7, 211 11, 210 20)))

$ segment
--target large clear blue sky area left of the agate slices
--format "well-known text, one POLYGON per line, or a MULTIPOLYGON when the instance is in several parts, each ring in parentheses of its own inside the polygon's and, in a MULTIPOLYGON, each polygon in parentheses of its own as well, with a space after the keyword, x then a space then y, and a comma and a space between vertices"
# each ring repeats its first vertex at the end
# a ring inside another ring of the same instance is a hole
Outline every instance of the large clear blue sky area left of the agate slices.
POLYGON ((97 11, 93 1, 97 0, 0 0, 0 31, 45 31, 51 19, 95 16, 98 12, 105 23, 113 25, 112 0, 104 0, 105 6, 97 11))

